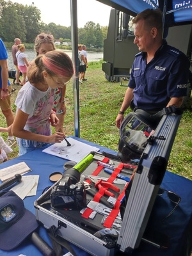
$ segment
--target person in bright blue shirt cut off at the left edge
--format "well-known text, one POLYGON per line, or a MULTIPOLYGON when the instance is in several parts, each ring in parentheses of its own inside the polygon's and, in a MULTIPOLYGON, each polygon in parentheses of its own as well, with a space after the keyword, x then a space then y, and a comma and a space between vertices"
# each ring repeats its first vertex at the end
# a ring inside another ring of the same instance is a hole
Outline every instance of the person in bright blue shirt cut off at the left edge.
MULTIPOLYGON (((1 111, 6 118, 7 126, 13 124, 14 116, 11 108, 11 95, 12 86, 8 80, 8 54, 3 41, 0 39, 0 107, 1 111)), ((12 131, 8 131, 8 138, 6 144, 10 147, 15 145, 16 141, 13 137, 12 131)))

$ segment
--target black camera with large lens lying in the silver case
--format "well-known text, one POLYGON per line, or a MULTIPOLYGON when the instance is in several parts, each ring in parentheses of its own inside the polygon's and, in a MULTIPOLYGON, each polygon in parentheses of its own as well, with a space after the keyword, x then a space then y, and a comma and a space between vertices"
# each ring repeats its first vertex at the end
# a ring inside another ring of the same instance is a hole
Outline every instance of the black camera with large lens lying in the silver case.
POLYGON ((86 190, 80 173, 73 168, 65 171, 58 185, 51 191, 51 206, 67 209, 82 209, 86 206, 86 190))

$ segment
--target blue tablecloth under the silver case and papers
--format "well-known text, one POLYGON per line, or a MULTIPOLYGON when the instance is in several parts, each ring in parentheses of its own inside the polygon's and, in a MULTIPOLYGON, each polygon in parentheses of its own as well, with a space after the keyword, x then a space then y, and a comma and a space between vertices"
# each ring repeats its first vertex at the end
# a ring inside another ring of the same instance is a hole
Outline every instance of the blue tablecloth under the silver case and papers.
MULTIPOLYGON (((109 148, 101 147, 92 142, 82 140, 72 136, 72 138, 82 141, 88 145, 93 145, 100 148, 100 152, 105 151, 111 154, 116 154, 115 151, 110 150, 109 148)), ((42 149, 35 150, 24 156, 17 157, 6 163, 0 165, 0 168, 5 168, 13 164, 17 164, 24 161, 31 168, 32 172, 28 173, 29 175, 40 175, 38 182, 38 188, 36 196, 26 197, 24 199, 24 205, 26 209, 35 214, 34 202, 37 198, 42 195, 42 191, 47 186, 52 186, 52 182, 49 180, 49 175, 52 172, 63 172, 63 164, 65 159, 60 157, 51 156, 42 152, 42 149)), ((167 206, 164 205, 164 201, 157 201, 154 205, 154 210, 152 212, 152 218, 150 220, 150 225, 156 228, 159 232, 163 232, 168 237, 170 237, 170 246, 168 250, 161 250, 149 244, 141 242, 140 248, 136 250, 132 255, 133 256, 186 256, 187 254, 183 252, 183 248, 186 249, 186 246, 189 246, 192 241, 188 241, 189 235, 192 233, 191 223, 192 223, 192 181, 175 175, 170 172, 166 172, 164 175, 163 183, 161 187, 164 189, 173 191, 177 193, 182 199, 179 206, 175 212, 170 216, 164 225, 161 223, 161 215, 164 216, 168 211, 167 206)), ((49 245, 51 241, 47 236, 45 228, 40 227, 38 234, 44 239, 49 245)), ((15 237, 17 234, 15 234, 15 237)), ((72 244, 76 254, 78 256, 88 256, 89 254, 77 248, 72 244)), ((65 250, 64 250, 65 252, 65 250)), ((11 252, 5 252, 0 250, 1 256, 17 256, 17 255, 26 255, 26 256, 41 256, 42 253, 26 239, 18 248, 12 250, 11 252)), ((64 254, 64 253, 63 253, 64 254)), ((98 252, 98 256, 99 255, 98 252)))

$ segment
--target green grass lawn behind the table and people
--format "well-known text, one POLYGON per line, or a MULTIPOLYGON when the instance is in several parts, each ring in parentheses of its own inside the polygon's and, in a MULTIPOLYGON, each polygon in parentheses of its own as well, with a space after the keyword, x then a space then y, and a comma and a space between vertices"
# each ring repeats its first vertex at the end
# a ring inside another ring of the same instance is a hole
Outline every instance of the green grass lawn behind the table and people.
MULTIPOLYGON (((92 141, 104 147, 113 150, 118 149, 119 131, 115 125, 115 118, 118 114, 127 81, 120 83, 109 83, 101 68, 102 61, 89 63, 86 71, 86 78, 83 84, 79 84, 79 115, 80 115, 80 138, 92 141)), ((13 85, 13 88, 16 86, 13 85)), ((19 92, 12 95, 12 109, 15 115, 15 97, 19 92)), ((74 135, 74 94, 72 80, 67 84, 67 114, 65 116, 65 134, 66 136, 74 135)), ((182 120, 180 121, 177 136, 172 148, 172 153, 168 163, 168 170, 177 173, 188 179, 192 179, 192 100, 188 108, 184 110, 182 120)), ((130 111, 130 109, 129 109, 130 111)), ((127 113, 129 113, 127 111, 127 113)), ((126 114, 127 114, 126 113, 126 114)), ((1 114, 0 125, 6 126, 5 118, 1 114)), ((54 132, 54 129, 52 129, 54 132)), ((6 140, 7 134, 2 133, 6 140)), ((17 157, 18 147, 13 146, 13 153, 9 158, 17 157)))

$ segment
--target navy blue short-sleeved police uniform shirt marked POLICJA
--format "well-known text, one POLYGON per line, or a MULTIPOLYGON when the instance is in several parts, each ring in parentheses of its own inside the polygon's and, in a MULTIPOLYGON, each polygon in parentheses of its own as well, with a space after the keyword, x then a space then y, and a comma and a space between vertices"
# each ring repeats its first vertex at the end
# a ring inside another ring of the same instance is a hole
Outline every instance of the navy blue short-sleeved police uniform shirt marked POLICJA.
POLYGON ((134 89, 136 108, 159 111, 167 106, 170 98, 186 96, 190 61, 166 40, 149 63, 146 54, 136 54, 128 86, 134 89))

